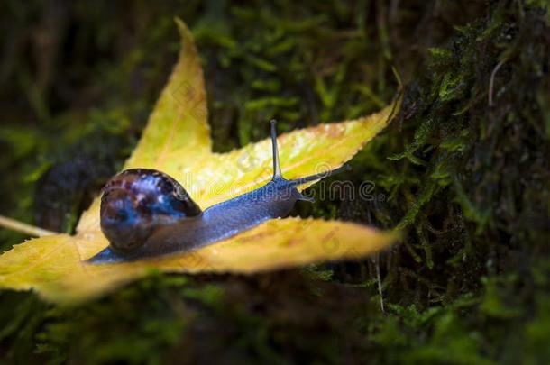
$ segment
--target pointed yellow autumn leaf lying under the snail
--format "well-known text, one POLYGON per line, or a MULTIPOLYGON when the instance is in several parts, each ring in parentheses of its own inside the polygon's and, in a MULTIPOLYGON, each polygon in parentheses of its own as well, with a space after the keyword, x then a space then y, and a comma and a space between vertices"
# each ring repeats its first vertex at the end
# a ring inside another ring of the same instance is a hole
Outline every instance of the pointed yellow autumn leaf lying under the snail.
MULTIPOLYGON (((270 141, 264 140, 240 150, 212 152, 202 68, 191 33, 184 23, 177 23, 182 37, 178 64, 124 169, 168 173, 204 210, 267 183, 272 175, 271 147, 270 141)), ((281 135, 283 176, 298 178, 342 166, 390 122, 399 104, 398 99, 377 114, 281 135)), ((108 246, 99 227, 99 201, 96 198, 82 214, 75 235, 32 239, 0 256, 0 288, 32 288, 52 302, 75 303, 142 278, 151 270, 254 273, 357 259, 380 251, 397 238, 396 233, 381 233, 360 224, 274 219, 197 251, 93 265, 85 260, 108 246)))

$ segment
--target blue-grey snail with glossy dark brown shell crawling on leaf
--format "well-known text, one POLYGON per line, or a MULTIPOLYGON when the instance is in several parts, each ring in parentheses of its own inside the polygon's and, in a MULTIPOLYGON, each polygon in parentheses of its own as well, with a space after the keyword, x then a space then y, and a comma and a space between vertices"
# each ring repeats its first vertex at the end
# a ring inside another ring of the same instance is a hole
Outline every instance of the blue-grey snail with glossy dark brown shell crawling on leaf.
POLYGON ((276 122, 271 121, 273 178, 266 185, 205 211, 174 178, 155 169, 126 169, 104 187, 101 230, 110 245, 93 264, 158 258, 191 251, 289 214, 298 200, 312 202, 298 186, 333 175, 344 165, 305 178, 287 180, 280 170, 276 122))

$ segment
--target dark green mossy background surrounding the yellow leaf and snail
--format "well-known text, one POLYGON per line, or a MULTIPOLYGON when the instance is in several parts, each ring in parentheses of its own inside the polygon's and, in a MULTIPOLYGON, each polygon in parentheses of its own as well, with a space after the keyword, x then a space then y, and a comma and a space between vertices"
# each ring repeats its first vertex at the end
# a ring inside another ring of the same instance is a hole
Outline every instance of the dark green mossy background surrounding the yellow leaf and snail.
MULTIPOLYGON (((151 274, 78 307, 3 291, 0 361, 550 361, 544 0, 22 4, 0 5, 3 214, 74 228, 139 138, 179 16, 204 60, 216 151, 265 137, 272 117, 291 130, 376 111, 395 67, 402 111, 344 177, 371 181, 372 198, 294 214, 407 236, 376 260, 151 274)), ((4 250, 22 240, 0 232, 4 250)))

